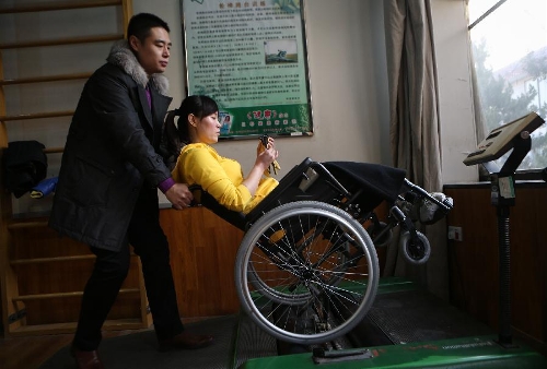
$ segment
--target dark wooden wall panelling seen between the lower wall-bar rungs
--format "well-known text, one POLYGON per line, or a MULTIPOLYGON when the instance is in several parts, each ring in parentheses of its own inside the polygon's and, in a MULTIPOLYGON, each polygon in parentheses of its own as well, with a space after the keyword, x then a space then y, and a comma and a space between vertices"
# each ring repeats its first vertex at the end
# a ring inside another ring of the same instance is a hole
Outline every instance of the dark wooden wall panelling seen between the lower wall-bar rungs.
MULTIPOLYGON (((54 261, 46 263, 14 264, 21 296, 56 293, 78 293, 83 290, 93 270, 94 257, 85 245, 68 237, 60 237, 53 229, 43 227, 12 229, 10 260, 35 260, 55 257, 91 255, 86 260, 54 261)), ((131 267, 123 288, 137 289, 138 260, 132 258, 131 267)), ((75 322, 80 310, 80 296, 28 300, 26 323, 51 324, 75 322)), ((119 295, 108 319, 140 317, 138 293, 119 295)))

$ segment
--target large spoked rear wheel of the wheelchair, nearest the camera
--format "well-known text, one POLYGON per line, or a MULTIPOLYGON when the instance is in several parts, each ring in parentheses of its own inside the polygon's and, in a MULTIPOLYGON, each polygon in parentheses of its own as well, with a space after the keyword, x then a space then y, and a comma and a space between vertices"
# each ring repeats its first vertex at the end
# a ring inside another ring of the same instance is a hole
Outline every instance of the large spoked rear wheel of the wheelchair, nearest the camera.
POLYGON ((315 201, 280 205, 246 231, 235 261, 245 312, 276 338, 325 343, 349 332, 377 289, 374 245, 345 211, 315 201))

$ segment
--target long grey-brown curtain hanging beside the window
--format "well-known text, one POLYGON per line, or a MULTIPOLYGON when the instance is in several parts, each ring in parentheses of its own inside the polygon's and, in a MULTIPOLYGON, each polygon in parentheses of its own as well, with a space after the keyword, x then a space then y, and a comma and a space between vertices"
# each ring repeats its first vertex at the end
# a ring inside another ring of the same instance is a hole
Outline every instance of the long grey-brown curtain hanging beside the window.
MULTIPOLYGON (((428 192, 442 191, 439 98, 430 0, 385 0, 389 136, 393 165, 428 192)), ((422 265, 406 264, 398 235, 388 247, 384 275, 414 277, 449 298, 445 221, 420 226, 431 245, 422 265)))

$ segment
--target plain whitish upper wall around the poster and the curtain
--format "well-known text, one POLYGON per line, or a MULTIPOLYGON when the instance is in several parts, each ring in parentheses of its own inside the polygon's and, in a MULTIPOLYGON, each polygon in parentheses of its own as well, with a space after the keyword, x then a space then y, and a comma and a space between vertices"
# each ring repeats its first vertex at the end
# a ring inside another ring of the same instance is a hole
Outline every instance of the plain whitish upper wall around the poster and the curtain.
MULTIPOLYGON (((179 3, 133 0, 133 12, 154 12, 172 27, 175 45, 166 72, 174 105, 184 95, 179 3), (181 46, 181 47, 177 47, 181 46)), ((445 183, 477 180, 462 162, 475 148, 464 0, 433 0, 434 41, 445 183)), ((281 138, 283 168, 305 156, 389 165, 389 107, 382 1, 306 0, 313 138, 281 138)), ((218 151, 251 168, 254 141, 221 142, 218 151)), ((282 174, 282 171, 281 171, 282 174)))

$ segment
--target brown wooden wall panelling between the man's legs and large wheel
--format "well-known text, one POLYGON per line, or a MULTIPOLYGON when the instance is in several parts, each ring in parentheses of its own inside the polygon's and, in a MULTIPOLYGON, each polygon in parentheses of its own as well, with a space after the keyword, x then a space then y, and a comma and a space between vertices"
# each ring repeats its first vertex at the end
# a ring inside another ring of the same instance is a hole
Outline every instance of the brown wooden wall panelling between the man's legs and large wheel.
POLYGON ((235 313, 235 254, 243 231, 205 207, 162 210, 162 227, 183 317, 235 313))

